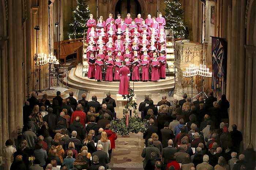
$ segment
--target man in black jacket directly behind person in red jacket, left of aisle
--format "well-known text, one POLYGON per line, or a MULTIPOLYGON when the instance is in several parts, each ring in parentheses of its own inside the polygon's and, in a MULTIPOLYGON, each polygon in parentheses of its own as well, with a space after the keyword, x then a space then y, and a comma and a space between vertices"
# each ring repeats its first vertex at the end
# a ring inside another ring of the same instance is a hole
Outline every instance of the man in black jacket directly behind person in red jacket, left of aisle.
POLYGON ((72 122, 69 126, 70 131, 76 131, 76 138, 79 139, 80 142, 86 137, 86 131, 82 123, 80 123, 80 117, 76 116, 75 121, 72 122))

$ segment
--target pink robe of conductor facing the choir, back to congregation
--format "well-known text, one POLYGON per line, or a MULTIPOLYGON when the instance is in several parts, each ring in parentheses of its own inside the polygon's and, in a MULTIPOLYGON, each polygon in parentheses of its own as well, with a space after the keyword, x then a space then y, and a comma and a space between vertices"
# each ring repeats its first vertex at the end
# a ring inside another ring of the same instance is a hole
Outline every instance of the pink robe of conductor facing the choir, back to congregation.
POLYGON ((129 89, 129 77, 128 74, 130 73, 130 70, 128 67, 122 67, 120 68, 120 71, 118 72, 119 75, 121 75, 120 83, 119 83, 119 90, 118 94, 120 95, 128 95, 128 89, 129 89))

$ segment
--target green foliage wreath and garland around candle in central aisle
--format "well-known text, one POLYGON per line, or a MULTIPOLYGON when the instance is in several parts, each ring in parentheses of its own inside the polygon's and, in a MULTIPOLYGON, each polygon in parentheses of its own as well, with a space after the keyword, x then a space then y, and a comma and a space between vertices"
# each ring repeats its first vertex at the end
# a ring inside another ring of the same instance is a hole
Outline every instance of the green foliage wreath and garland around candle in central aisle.
POLYGON ((142 122, 141 118, 137 114, 137 103, 133 102, 134 97, 133 90, 128 89, 129 94, 123 95, 124 99, 127 99, 127 104, 125 104, 123 109, 123 118, 112 120, 110 122, 111 129, 116 132, 118 135, 128 135, 129 133, 139 133, 145 132, 147 130, 147 120, 142 122), (126 125, 126 114, 129 114, 129 106, 133 108, 134 116, 129 116, 129 125, 126 125))

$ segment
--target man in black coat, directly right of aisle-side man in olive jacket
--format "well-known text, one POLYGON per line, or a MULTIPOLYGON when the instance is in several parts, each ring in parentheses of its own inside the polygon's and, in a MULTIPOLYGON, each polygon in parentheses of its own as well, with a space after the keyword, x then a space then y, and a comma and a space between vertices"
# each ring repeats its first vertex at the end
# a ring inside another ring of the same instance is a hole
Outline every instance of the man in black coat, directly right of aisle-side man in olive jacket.
POLYGON ((173 140, 170 139, 168 141, 168 146, 165 147, 162 151, 162 158, 163 158, 163 164, 165 167, 167 166, 167 163, 170 163, 171 161, 175 160, 174 154, 177 152, 177 149, 173 147, 173 140))

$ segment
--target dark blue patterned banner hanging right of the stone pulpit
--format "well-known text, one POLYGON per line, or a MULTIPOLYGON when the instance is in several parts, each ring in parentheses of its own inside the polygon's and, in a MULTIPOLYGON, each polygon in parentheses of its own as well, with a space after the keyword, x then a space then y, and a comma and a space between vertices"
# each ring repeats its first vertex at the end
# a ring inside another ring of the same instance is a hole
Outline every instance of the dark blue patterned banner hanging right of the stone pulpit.
MULTIPOLYGON (((212 83, 211 88, 216 89, 219 79, 226 77, 226 41, 223 38, 211 36, 212 54, 212 83)), ((222 89, 222 88, 221 88, 222 89)), ((222 89, 223 93, 223 89, 222 89)))

